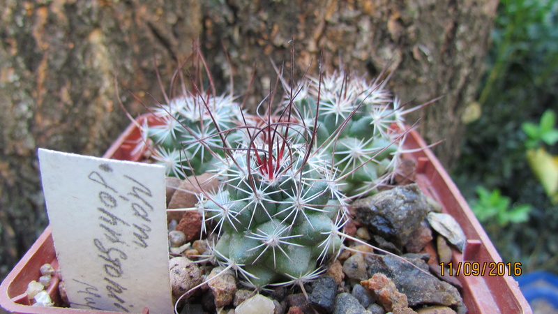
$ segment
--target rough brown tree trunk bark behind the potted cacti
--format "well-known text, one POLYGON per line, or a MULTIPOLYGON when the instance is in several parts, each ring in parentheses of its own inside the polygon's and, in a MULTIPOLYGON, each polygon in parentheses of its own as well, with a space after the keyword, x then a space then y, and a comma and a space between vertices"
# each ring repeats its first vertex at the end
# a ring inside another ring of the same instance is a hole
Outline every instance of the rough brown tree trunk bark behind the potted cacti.
POLYGON ((0 276, 47 224, 36 149, 100 156, 133 114, 163 102, 176 60, 199 40, 218 91, 248 104, 276 80, 345 68, 387 68, 444 165, 458 156, 460 114, 474 100, 497 0, 490 1, 0 1, 0 276), (169 4, 169 2, 176 2, 169 4), (228 54, 228 59, 227 59, 228 54), (229 76, 234 87, 229 85, 229 76), (286 75, 287 76, 287 75, 286 75), (119 91, 119 97, 117 96, 119 91), (130 94, 130 91, 134 94, 130 94), (153 99, 151 98, 153 97, 153 99))

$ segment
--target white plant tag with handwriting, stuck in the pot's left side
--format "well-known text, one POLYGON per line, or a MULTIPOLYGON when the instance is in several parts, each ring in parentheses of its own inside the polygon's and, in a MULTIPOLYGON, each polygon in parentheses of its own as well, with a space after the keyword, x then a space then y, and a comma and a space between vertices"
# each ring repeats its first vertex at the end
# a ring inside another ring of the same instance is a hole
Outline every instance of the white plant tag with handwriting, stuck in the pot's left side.
POLYGON ((47 149, 38 156, 70 306, 173 313, 164 167, 47 149))

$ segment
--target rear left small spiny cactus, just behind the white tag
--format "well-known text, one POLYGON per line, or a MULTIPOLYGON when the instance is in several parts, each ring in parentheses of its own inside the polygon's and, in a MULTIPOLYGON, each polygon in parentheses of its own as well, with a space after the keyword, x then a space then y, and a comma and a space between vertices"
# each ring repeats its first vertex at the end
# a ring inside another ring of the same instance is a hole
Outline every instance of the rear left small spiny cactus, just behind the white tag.
POLYGON ((220 130, 236 126, 241 117, 239 104, 230 95, 211 96, 185 93, 152 110, 156 121, 140 131, 151 159, 165 165, 167 176, 184 179, 202 174, 223 156, 220 130))

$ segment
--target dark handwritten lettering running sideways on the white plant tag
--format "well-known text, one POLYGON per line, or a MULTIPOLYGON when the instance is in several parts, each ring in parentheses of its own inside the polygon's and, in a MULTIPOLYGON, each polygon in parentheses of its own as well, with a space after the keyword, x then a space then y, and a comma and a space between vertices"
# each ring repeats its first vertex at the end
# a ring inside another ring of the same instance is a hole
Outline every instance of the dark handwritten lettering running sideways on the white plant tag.
POLYGON ((126 302, 123 295, 128 288, 119 278, 127 271, 126 262, 130 251, 149 246, 149 214, 153 211, 153 195, 149 188, 133 176, 114 174, 112 168, 106 164, 89 173, 87 178, 95 182, 94 186, 98 188, 91 192, 98 195, 98 203, 94 206, 98 211, 98 234, 102 236, 94 238, 92 245, 98 253, 96 257, 103 265, 99 271, 104 276, 105 287, 75 280, 83 287, 78 293, 84 297, 83 301, 75 305, 98 309, 101 303, 106 302, 101 301, 102 299, 112 299, 115 308, 129 312, 133 306, 126 302), (127 184, 116 185, 112 183, 114 181, 127 184))

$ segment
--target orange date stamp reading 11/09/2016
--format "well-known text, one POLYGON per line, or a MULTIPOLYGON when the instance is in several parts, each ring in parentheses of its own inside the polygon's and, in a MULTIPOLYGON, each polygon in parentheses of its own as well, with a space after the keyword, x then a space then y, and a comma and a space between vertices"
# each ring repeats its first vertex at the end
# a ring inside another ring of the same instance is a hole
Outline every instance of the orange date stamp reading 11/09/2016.
POLYGON ((440 263, 440 275, 444 276, 521 276, 520 262, 458 262, 440 263))

